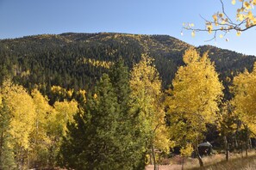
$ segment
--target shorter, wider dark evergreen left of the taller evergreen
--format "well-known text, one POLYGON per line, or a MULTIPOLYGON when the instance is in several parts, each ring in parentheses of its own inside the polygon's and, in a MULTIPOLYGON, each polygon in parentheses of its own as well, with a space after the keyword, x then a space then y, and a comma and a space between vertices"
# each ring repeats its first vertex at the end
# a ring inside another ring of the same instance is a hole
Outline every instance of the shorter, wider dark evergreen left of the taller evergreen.
POLYGON ((114 88, 109 76, 103 74, 97 82, 95 94, 87 101, 84 116, 76 118, 78 126, 69 126, 70 137, 66 137, 61 147, 66 166, 77 169, 120 169, 118 117, 114 88))

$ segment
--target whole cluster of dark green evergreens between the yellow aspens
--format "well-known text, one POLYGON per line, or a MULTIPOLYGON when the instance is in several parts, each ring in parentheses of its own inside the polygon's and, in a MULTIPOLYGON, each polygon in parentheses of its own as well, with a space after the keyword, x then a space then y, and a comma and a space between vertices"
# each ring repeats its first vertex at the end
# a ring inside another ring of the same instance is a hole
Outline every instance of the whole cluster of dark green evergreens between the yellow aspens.
POLYGON ((69 124, 59 164, 75 169, 144 169, 144 153, 130 116, 128 67, 118 60, 89 94, 84 114, 69 124))

